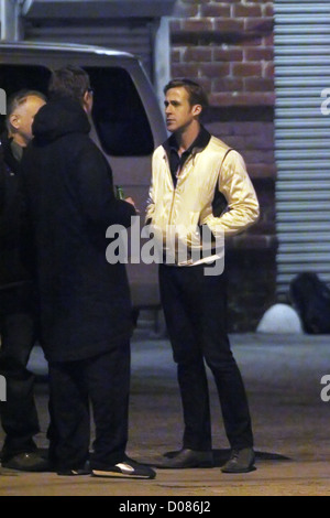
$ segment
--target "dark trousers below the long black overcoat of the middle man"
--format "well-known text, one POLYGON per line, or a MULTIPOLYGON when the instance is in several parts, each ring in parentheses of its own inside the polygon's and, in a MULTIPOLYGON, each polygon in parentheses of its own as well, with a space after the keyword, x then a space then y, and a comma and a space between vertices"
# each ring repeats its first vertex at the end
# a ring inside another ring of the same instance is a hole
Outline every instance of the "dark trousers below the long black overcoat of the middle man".
POLYGON ((89 460, 91 402, 96 428, 92 468, 122 462, 128 442, 130 344, 78 361, 50 361, 51 456, 59 470, 89 460))

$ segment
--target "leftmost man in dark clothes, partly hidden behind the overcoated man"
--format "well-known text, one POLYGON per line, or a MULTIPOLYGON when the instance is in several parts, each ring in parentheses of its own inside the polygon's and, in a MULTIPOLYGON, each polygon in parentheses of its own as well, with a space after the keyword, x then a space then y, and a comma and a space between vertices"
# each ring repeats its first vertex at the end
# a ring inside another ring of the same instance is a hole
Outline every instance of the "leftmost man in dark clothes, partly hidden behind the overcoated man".
POLYGON ((8 131, 0 138, 0 374, 7 380, 7 401, 0 403, 6 432, 1 460, 3 467, 28 472, 44 471, 47 463, 33 440, 40 427, 34 376, 26 369, 35 343, 35 307, 26 268, 31 242, 20 209, 21 160, 33 137, 33 118, 44 104, 38 91, 22 90, 12 96, 7 110, 8 131))

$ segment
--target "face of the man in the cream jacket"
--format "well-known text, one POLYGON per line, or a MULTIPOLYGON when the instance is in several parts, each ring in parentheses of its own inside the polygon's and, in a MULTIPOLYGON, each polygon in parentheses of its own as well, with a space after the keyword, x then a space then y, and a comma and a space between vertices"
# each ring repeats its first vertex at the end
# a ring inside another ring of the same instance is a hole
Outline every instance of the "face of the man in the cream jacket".
MULTIPOLYGON (((165 115, 168 131, 184 130, 196 119, 197 106, 191 106, 189 94, 184 87, 172 88, 165 98, 165 115)), ((200 112, 200 110, 199 110, 200 112)))

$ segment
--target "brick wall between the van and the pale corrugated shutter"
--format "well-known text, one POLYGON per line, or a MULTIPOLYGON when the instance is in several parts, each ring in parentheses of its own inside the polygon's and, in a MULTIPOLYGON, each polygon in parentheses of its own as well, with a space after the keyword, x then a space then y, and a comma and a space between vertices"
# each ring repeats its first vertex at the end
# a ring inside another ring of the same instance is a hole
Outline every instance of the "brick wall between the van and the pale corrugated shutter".
POLYGON ((177 0, 172 75, 209 94, 205 123, 244 157, 262 216, 228 244, 230 331, 253 331, 275 302, 273 2, 177 0))

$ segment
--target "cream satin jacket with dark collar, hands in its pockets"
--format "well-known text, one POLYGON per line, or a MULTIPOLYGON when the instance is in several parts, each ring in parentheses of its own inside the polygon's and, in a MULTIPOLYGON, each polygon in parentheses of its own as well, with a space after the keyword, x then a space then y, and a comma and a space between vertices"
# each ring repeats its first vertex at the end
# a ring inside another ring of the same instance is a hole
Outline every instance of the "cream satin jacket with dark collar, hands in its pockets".
POLYGON ((154 152, 146 222, 164 251, 177 247, 178 241, 188 249, 187 258, 177 258, 177 250, 174 250, 175 260, 169 263, 194 266, 217 259, 219 249, 215 252, 215 247, 209 247, 208 251, 205 247, 200 258, 198 253, 191 256, 191 250, 201 248, 200 228, 207 225, 221 242, 226 236, 246 230, 258 216, 258 201, 244 160, 221 140, 211 137, 205 149, 194 149, 178 175, 176 187, 165 148, 161 145, 154 152), (219 217, 213 216, 212 207, 216 188, 228 203, 219 217), (172 239, 174 234, 176 239, 172 239))

